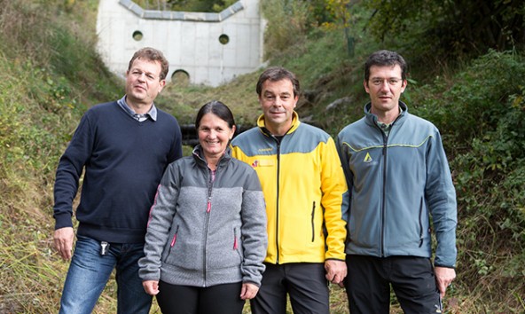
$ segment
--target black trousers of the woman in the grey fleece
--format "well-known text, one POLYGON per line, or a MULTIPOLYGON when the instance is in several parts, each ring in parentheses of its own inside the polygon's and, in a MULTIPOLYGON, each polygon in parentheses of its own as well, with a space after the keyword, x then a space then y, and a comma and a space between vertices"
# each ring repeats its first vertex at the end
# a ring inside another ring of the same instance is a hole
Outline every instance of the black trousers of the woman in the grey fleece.
POLYGON ((190 287, 159 282, 157 302, 163 314, 241 314, 242 283, 190 287))

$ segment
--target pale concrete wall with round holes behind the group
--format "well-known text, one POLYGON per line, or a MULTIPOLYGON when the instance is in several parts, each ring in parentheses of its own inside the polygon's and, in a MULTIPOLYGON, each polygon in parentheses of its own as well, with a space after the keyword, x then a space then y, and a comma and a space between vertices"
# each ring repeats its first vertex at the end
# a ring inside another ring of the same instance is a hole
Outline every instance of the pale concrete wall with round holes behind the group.
POLYGON ((259 0, 240 0, 220 13, 145 10, 131 0, 100 0, 98 53, 123 76, 135 51, 150 46, 169 61, 168 81, 211 86, 253 72, 263 62, 259 0))

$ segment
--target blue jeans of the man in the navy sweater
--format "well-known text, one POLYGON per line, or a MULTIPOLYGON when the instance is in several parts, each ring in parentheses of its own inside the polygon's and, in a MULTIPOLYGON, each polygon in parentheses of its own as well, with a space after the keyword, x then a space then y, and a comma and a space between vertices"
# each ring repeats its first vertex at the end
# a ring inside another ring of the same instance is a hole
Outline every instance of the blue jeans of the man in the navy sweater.
POLYGON ((78 236, 60 300, 60 314, 90 314, 116 267, 117 313, 149 313, 152 296, 138 277, 144 244, 111 243, 100 255, 100 241, 78 236))

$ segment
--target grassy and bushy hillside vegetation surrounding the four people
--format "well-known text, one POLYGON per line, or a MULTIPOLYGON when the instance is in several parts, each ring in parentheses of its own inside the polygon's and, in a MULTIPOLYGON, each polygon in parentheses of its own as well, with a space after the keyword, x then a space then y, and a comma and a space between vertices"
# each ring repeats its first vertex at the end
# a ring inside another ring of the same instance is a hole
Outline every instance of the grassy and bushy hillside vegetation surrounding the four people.
MULTIPOLYGON (((142 5, 220 11, 231 3, 142 5)), ((123 92, 95 51, 97 8, 97 0, 0 0, 0 312, 58 309, 67 263, 51 243, 54 170, 82 113, 123 92)), ((446 308, 524 312, 525 3, 264 0, 261 8, 266 61, 299 76, 297 111, 332 135, 363 114, 366 56, 404 55, 403 99, 441 130, 458 192, 458 279, 446 308)), ((260 71, 217 88, 168 84, 159 106, 192 123, 196 108, 219 98, 238 122, 254 122, 260 71)), ((333 313, 344 313, 333 291, 333 313)), ((96 312, 114 309, 109 285, 96 312)))

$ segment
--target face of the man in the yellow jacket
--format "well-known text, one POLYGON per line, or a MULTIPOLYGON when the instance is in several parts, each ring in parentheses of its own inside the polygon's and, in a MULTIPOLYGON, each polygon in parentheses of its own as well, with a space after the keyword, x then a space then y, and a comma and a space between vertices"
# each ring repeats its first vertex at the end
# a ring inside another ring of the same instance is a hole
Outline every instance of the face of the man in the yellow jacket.
POLYGON ((298 99, 299 96, 294 96, 294 84, 288 79, 263 82, 259 103, 271 134, 284 135, 290 129, 298 99))

